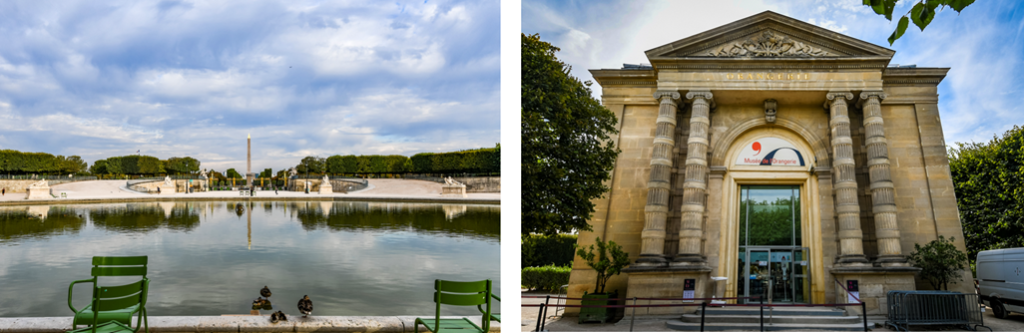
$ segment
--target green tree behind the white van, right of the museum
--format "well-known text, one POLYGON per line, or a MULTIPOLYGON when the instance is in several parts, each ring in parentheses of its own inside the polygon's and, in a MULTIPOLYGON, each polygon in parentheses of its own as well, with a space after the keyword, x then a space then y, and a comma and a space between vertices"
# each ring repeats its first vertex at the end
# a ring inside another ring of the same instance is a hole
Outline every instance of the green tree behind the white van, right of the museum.
POLYGON ((957 142, 948 157, 968 258, 1024 247, 1024 128, 987 143, 957 142))

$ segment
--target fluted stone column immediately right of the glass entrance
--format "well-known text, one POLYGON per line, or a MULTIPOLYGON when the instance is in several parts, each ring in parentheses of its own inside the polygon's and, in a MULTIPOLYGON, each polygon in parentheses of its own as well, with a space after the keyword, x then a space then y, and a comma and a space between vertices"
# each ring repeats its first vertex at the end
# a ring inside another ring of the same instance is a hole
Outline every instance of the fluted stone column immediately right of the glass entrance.
POLYGON ((850 138, 849 91, 829 91, 825 98, 829 107, 833 143, 833 180, 836 188, 836 215, 839 216, 840 264, 858 265, 864 257, 864 235, 860 231, 860 205, 857 203, 856 166, 853 160, 853 139, 850 138))

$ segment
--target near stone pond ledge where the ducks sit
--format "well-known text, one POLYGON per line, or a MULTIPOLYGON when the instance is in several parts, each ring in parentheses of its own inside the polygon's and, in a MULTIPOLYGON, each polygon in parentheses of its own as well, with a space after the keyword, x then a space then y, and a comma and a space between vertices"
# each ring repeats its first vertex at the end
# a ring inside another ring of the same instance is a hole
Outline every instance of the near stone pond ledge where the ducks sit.
MULTIPOLYGON (((413 332, 417 316, 289 316, 287 322, 270 323, 270 316, 156 317, 150 316, 151 333, 206 332, 413 332)), ((419 316, 430 318, 430 316, 419 316)), ((442 316, 442 319, 463 317, 442 316)), ((480 325, 479 316, 469 316, 480 325)), ((56 333, 71 330, 71 317, 0 318, 2 333, 56 333)), ((132 321, 134 324, 135 321, 132 321)), ((81 327, 80 327, 81 328, 81 327)), ((421 332, 426 332, 422 327, 421 332)), ((500 332, 501 323, 490 322, 490 332, 500 332)), ((139 330, 143 332, 143 330, 139 330)))

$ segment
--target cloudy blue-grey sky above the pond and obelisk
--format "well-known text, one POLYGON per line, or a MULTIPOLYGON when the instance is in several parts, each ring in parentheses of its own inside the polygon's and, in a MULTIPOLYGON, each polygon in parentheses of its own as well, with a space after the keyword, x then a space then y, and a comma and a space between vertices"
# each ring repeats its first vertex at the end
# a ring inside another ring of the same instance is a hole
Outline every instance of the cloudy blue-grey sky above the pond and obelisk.
POLYGON ((3 1, 0 149, 308 155, 500 141, 499 1, 3 1))

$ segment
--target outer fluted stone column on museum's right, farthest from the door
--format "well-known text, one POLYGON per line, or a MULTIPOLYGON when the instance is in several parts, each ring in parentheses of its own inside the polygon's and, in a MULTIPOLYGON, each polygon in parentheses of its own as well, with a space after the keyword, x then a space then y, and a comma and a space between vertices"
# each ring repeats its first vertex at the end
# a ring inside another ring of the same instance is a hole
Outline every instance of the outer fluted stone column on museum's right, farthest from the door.
POLYGON ((899 225, 896 221, 896 190, 889 175, 889 148, 886 143, 882 121, 882 91, 860 93, 864 110, 867 167, 871 179, 871 211, 874 213, 874 235, 879 243, 878 262, 883 265, 903 265, 906 258, 899 245, 899 225))

